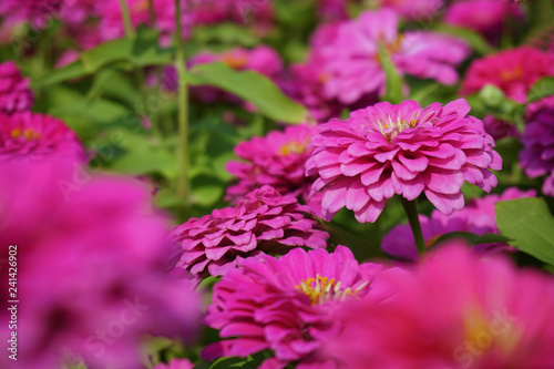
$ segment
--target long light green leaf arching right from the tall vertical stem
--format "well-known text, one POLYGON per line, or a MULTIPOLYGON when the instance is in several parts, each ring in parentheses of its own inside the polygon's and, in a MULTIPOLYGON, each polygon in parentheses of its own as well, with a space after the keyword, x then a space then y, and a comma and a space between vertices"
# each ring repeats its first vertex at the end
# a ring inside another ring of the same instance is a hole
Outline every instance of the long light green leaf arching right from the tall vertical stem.
POLYGON ((191 85, 212 85, 256 105, 258 111, 279 122, 306 122, 306 107, 287 98, 268 78, 253 71, 237 72, 225 63, 196 65, 187 75, 191 85))

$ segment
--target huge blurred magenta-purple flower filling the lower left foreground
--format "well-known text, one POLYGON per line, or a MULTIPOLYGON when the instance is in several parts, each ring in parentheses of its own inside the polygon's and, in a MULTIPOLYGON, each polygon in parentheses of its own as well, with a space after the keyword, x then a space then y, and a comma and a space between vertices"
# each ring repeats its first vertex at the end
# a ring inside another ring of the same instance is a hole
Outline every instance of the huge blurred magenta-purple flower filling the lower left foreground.
MULTIPOLYGON (((168 222, 150 202, 140 183, 93 176, 74 161, 2 162, 1 257, 17 245, 22 368, 57 368, 69 353, 89 367, 138 368, 142 335, 193 337, 201 301, 191 280, 163 270, 168 222)), ((10 335, 8 325, 0 332, 10 335)))

